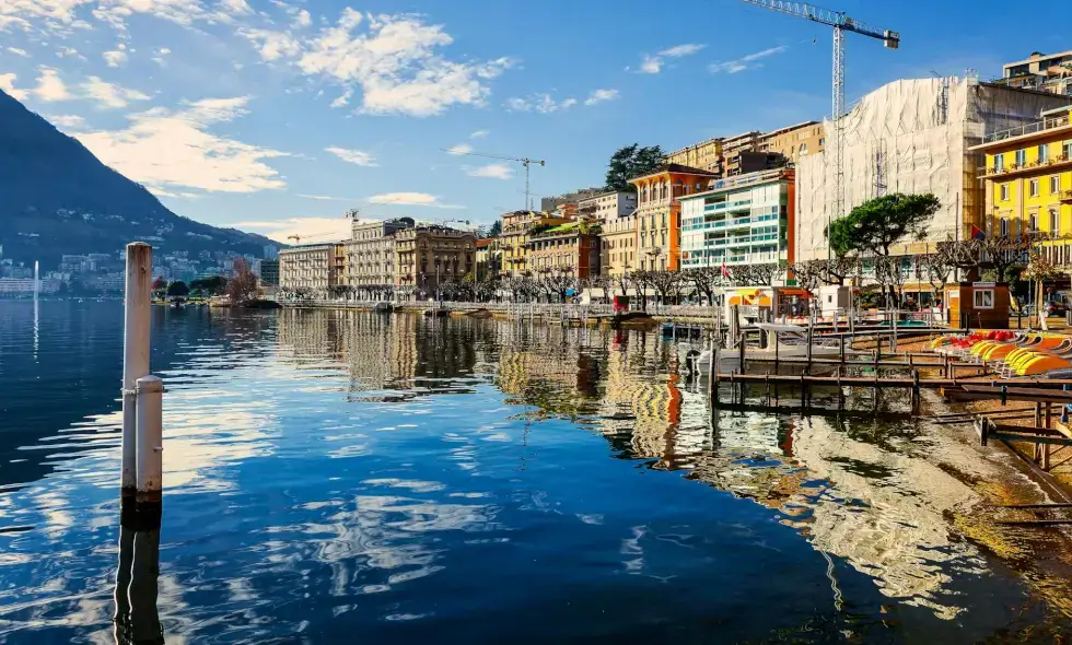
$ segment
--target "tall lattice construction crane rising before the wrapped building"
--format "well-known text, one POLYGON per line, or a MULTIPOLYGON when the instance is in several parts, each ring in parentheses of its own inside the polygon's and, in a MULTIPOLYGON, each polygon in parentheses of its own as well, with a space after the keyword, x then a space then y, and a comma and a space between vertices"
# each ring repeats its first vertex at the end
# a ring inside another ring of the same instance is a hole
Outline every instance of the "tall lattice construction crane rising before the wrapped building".
MULTIPOLYGON (((834 214, 827 220, 827 238, 829 239, 830 223, 834 218, 840 218, 844 214, 844 142, 841 136, 841 116, 844 114, 844 32, 854 32, 882 40, 887 49, 900 47, 900 34, 865 25, 849 17, 843 11, 831 11, 814 4, 788 0, 741 1, 834 27, 834 113, 831 124, 834 125, 836 141, 834 145, 834 214)), ((827 253, 830 253, 829 244, 827 245, 827 253)))

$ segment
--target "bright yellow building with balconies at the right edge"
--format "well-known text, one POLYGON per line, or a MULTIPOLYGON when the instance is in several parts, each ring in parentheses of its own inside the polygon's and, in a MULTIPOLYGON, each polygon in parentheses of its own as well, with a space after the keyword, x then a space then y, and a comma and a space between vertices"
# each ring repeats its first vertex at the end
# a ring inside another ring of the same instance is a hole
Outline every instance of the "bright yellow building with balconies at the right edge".
POLYGON ((987 235, 1042 234, 1050 259, 1072 262, 1072 110, 1044 112, 1041 120, 988 136, 982 152, 987 235))

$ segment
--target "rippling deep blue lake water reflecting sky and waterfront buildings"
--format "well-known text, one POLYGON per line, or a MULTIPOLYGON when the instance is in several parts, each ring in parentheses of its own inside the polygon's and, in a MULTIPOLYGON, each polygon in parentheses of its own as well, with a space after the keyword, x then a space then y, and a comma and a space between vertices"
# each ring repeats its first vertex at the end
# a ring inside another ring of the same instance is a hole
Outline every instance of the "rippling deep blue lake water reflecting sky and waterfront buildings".
MULTIPOLYGON (((120 303, 0 302, 0 642, 115 642, 121 328, 120 303)), ((158 308, 153 345, 160 575, 131 596, 158 595, 167 643, 972 643, 1063 624, 952 530, 978 500, 934 466, 974 458, 944 431, 712 427, 655 335, 158 308)))

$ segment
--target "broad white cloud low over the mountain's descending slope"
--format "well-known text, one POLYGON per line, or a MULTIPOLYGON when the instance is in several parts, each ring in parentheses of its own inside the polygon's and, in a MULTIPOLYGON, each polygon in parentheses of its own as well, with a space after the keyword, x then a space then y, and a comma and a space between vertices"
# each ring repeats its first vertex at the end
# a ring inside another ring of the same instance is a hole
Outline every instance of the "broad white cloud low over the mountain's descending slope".
POLYGON ((211 133, 210 128, 247 114, 248 97, 207 98, 177 110, 129 115, 124 130, 78 133, 102 162, 150 190, 256 192, 287 183, 265 160, 287 153, 211 133))

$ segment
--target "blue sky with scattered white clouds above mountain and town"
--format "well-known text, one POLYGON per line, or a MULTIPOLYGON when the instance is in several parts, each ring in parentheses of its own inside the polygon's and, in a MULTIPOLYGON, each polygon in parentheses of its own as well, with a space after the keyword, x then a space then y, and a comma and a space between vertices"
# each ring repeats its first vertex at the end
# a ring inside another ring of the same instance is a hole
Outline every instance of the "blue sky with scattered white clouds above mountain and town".
MULTIPOLYGON (((935 70, 982 79, 1060 30, 1013 3, 837 0, 849 101, 935 70)), ((0 87, 175 212, 279 239, 340 213, 490 223, 672 150, 830 110, 828 27, 739 0, 0 0, 0 87)))

